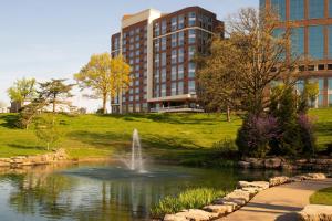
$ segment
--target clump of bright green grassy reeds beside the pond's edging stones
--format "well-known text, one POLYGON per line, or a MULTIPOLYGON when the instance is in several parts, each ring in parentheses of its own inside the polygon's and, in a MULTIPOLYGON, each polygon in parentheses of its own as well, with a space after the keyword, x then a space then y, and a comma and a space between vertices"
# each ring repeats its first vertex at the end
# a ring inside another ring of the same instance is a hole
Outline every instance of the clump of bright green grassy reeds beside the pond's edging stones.
POLYGON ((224 196, 224 191, 209 188, 189 189, 176 197, 165 197, 152 208, 151 212, 153 217, 162 218, 167 213, 176 213, 184 209, 201 208, 224 196))

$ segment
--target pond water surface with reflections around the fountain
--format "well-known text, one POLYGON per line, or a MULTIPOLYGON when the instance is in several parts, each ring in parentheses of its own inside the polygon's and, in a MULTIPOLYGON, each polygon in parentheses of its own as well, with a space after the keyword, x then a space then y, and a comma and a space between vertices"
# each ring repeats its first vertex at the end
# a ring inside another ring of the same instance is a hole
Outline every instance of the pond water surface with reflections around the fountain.
POLYGON ((240 179, 278 172, 153 166, 146 173, 122 165, 42 166, 0 171, 0 220, 148 220, 160 198, 191 187, 230 190, 240 179))

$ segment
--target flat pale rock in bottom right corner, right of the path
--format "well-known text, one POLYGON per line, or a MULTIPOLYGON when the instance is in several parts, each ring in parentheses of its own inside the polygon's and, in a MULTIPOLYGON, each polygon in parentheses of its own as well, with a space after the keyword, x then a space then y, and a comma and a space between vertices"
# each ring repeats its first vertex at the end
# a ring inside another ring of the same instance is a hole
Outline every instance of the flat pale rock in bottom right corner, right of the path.
POLYGON ((299 212, 299 217, 303 221, 331 221, 332 206, 309 204, 299 212))

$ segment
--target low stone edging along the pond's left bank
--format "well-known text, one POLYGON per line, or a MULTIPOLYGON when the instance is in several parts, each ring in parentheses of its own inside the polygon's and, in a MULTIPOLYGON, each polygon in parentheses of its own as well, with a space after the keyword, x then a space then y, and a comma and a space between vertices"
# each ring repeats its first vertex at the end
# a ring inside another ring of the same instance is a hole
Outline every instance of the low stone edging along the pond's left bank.
POLYGON ((50 165, 65 159, 68 159, 65 150, 56 149, 44 155, 0 158, 0 167, 20 168, 23 166, 50 165))

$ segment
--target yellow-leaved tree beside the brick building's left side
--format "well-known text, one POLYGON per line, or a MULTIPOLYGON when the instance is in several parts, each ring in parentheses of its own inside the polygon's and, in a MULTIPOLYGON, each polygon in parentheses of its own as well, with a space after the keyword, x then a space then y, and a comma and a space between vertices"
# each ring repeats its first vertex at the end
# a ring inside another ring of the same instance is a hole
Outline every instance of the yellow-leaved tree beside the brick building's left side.
POLYGON ((82 90, 91 88, 102 97, 103 113, 106 114, 107 96, 120 94, 129 84, 129 70, 122 57, 112 60, 108 53, 93 54, 74 78, 82 90))

